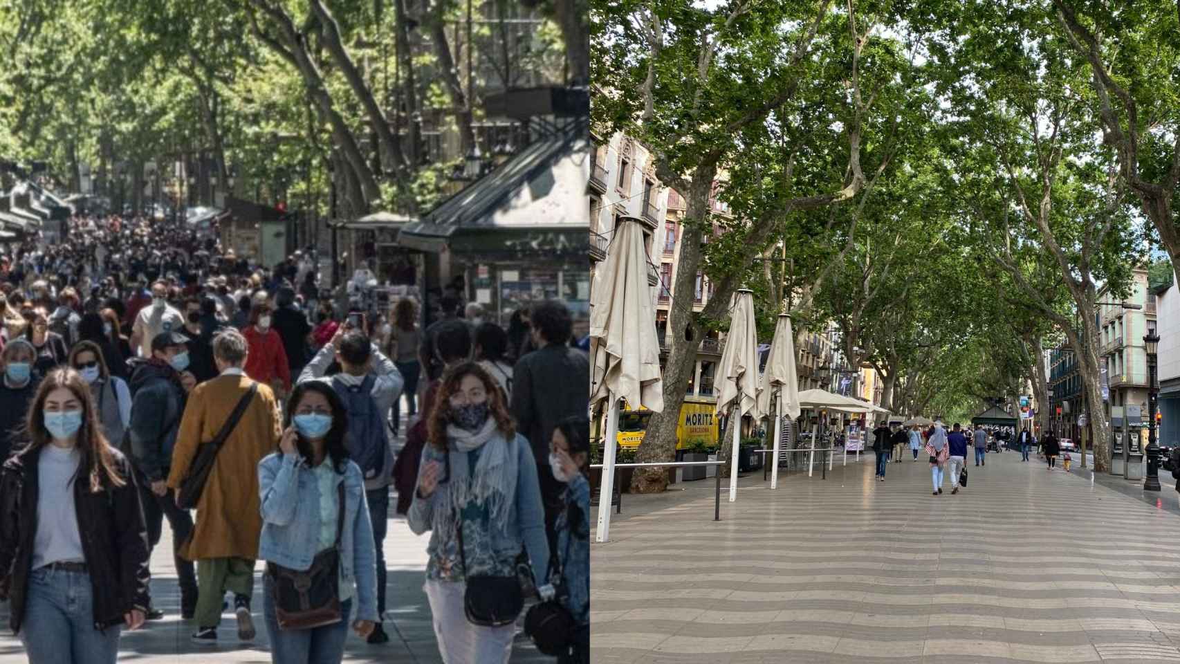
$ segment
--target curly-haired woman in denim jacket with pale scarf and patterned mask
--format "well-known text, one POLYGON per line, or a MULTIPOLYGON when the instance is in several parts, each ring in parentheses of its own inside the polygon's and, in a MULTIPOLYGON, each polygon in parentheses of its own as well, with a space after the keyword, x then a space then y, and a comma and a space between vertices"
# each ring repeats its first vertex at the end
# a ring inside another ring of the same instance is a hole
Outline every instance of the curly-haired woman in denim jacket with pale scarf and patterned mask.
MULTIPOLYGON (((474 362, 459 364, 441 379, 407 519, 415 534, 432 531, 426 547, 426 596, 442 660, 506 663, 516 629, 467 622, 468 571, 463 558, 472 574, 514 576, 523 546, 539 578, 549 570, 549 543, 532 448, 516 433, 498 383, 474 362), (463 521, 463 555, 455 537, 457 512, 463 521)), ((537 590, 544 599, 553 597, 550 584, 537 590)))

